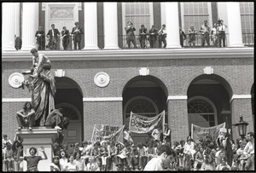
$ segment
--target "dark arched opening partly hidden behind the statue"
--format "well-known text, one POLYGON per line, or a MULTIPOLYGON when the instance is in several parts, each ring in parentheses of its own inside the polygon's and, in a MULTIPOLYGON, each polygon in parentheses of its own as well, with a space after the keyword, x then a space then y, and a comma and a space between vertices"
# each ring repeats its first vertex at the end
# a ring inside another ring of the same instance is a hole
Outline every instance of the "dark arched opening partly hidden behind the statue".
POLYGON ((84 108, 82 90, 71 78, 55 78, 55 107, 64 109, 64 116, 70 119, 67 130, 63 130, 63 143, 82 142, 84 136, 84 108))

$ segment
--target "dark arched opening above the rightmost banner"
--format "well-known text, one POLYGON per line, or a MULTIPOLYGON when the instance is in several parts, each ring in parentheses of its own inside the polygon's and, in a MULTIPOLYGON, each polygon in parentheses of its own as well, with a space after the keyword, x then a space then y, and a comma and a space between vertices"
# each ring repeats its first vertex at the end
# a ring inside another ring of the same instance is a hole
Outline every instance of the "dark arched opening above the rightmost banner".
POLYGON ((201 75, 195 78, 188 89, 189 132, 191 124, 212 127, 226 122, 231 129, 230 84, 222 77, 201 75))

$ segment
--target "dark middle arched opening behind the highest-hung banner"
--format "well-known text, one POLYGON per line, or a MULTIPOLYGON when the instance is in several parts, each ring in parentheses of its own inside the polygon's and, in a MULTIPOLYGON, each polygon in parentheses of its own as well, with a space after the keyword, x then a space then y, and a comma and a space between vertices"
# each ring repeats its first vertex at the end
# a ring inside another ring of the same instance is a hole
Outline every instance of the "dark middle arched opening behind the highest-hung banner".
MULTIPOLYGON (((154 117, 162 111, 167 111, 167 89, 159 78, 153 76, 138 76, 132 78, 123 90, 123 122, 129 127, 131 112, 154 117)), ((165 121, 167 120, 167 112, 165 121)), ((148 140, 148 134, 132 133, 135 143, 148 140)))

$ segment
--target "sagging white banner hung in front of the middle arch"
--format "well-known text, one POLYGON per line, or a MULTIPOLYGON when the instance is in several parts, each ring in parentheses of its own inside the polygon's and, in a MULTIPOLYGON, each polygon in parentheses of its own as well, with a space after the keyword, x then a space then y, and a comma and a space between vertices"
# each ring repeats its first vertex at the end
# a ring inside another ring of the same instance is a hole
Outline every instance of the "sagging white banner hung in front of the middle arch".
POLYGON ((129 131, 133 133, 148 133, 149 131, 154 130, 157 125, 163 127, 164 118, 165 111, 152 118, 131 112, 129 131))

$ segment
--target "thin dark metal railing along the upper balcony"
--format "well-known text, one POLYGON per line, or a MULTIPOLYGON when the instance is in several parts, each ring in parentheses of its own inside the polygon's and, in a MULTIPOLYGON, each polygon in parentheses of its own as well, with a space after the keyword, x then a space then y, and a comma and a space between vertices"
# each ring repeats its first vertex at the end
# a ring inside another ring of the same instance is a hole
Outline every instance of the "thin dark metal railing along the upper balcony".
MULTIPOLYGON (((161 48, 163 48, 163 43, 160 41, 159 35, 156 35, 154 37, 154 39, 152 37, 150 38, 148 35, 145 37, 140 37, 138 35, 135 35, 134 37, 131 38, 131 48, 129 48, 129 46, 128 46, 127 38, 128 37, 126 35, 119 35, 119 47, 121 49, 135 49, 135 45, 132 42, 133 39, 135 40, 137 49, 154 49, 154 48, 161 49, 161 48), (150 42, 152 42, 153 45, 150 46, 150 42)), ((227 45, 228 45, 227 44, 229 42, 228 39, 229 39, 228 34, 226 34, 225 35, 225 47, 227 47, 227 45)), ((37 49, 40 50, 40 45, 42 45, 41 50, 52 50, 50 43, 49 43, 49 38, 46 37, 44 40, 45 41, 42 41, 41 43, 37 43, 37 49)), ((69 40, 69 43, 67 44, 67 50, 74 50, 73 36, 69 36, 68 40, 69 40)), ((98 40, 101 40, 99 42, 99 46, 100 46, 100 44, 102 45, 102 43, 104 41, 104 36, 98 36, 98 40)), ((195 48, 219 47, 218 41, 219 41, 218 36, 215 37, 215 39, 214 39, 214 37, 209 35, 210 45, 208 46, 207 40, 205 40, 205 44, 204 44, 204 46, 202 46, 202 35, 196 34, 195 35, 195 48)), ((242 43, 244 43, 245 46, 254 46, 254 33, 243 33, 242 34, 242 43)), ((81 42, 81 45, 82 44, 83 43, 81 42)), ((15 39, 15 48, 21 49, 21 47, 22 47, 22 38, 17 37, 15 39)), ((183 47, 184 48, 193 48, 194 47, 193 43, 191 43, 191 45, 189 46, 189 34, 186 34, 186 39, 183 40, 183 47)), ((221 42, 221 47, 223 47, 223 41, 221 42)), ((81 48, 81 49, 83 49, 83 48, 81 48)), ((57 39, 56 50, 64 50, 63 45, 62 45, 62 37, 61 36, 59 36, 57 39)))

